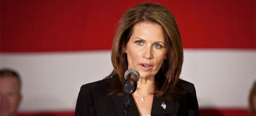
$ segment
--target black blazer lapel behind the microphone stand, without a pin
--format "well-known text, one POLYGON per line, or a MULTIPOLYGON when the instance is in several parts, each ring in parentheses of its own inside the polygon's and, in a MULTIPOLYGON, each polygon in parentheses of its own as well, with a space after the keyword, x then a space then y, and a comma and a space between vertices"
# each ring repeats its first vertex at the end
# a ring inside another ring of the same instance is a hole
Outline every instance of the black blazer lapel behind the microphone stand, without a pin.
MULTIPOLYGON (((117 96, 117 95, 111 95, 115 112, 118 116, 123 116, 123 110, 124 110, 124 96, 117 96)), ((136 116, 140 115, 138 108, 135 104, 135 101, 133 100, 133 97, 130 96, 130 107, 129 107, 129 116, 136 116)))

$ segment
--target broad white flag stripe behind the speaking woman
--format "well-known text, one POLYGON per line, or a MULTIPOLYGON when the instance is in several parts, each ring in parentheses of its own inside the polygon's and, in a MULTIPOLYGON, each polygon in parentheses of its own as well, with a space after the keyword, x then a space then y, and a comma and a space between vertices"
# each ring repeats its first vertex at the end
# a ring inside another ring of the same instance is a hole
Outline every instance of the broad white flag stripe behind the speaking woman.
MULTIPOLYGON (((1 54, 1 67, 23 81, 21 111, 75 108, 80 86, 113 69, 110 51, 1 54), (33 104, 33 105, 32 105, 33 104)), ((199 106, 242 107, 256 74, 255 50, 185 49, 181 78, 195 84, 199 106)))

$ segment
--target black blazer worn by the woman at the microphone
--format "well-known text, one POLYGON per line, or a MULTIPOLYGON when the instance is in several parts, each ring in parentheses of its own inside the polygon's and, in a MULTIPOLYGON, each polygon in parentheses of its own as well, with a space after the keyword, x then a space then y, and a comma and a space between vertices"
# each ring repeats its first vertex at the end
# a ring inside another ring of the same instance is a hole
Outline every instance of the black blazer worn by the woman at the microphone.
MULTIPOLYGON (((114 76, 110 79, 104 79, 93 83, 85 84, 81 87, 76 104, 76 116, 90 116, 90 115, 110 115, 122 116, 124 96, 108 95, 110 88, 114 86, 114 76)), ((192 83, 185 80, 179 80, 182 84, 183 90, 186 90, 185 95, 179 95, 179 99, 175 101, 168 101, 163 97, 153 98, 151 115, 199 115, 198 101, 196 99, 195 87, 192 83), (166 109, 163 108, 162 103, 166 104, 166 109)), ((129 116, 138 116, 139 111, 133 100, 130 99, 129 116)))

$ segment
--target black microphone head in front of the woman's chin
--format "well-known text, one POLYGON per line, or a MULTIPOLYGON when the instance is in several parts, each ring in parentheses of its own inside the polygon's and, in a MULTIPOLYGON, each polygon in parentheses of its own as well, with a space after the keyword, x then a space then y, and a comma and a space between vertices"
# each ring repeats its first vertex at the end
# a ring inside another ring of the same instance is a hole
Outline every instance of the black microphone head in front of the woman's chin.
POLYGON ((139 72, 135 69, 129 69, 124 73, 123 91, 132 94, 137 89, 137 81, 139 81, 139 72))

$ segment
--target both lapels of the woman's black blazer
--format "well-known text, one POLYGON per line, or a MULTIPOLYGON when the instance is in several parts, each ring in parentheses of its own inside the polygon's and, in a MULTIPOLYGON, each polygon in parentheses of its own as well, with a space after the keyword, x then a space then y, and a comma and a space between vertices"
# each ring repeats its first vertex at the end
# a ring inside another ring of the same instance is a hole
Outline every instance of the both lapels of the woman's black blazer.
MULTIPOLYGON (((124 96, 111 95, 114 103, 115 112, 117 115, 123 115, 124 96)), ((167 101, 163 97, 153 98, 153 104, 151 109, 151 115, 159 114, 173 114, 175 111, 175 103, 173 101, 167 101), (163 104, 163 105, 162 105, 163 104), (164 108, 166 105, 166 108, 164 108)), ((133 97, 130 97, 129 116, 140 115, 138 108, 135 104, 133 97)))

